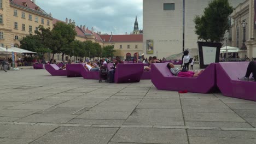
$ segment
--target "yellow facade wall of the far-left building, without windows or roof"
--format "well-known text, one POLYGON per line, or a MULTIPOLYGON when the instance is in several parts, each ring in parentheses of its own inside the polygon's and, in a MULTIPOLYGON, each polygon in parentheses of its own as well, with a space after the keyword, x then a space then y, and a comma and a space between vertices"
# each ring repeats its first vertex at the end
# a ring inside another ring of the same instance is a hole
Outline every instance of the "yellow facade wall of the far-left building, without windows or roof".
POLYGON ((3 43, 4 46, 20 46, 20 41, 23 37, 26 37, 28 34, 34 34, 36 27, 39 25, 44 26, 45 28, 53 29, 53 18, 41 13, 37 13, 31 9, 26 9, 19 5, 11 4, 9 0, 3 0, 3 9, 0 9, 0 14, 4 16, 3 25, 0 24, 0 31, 4 32, 4 39, 0 40, 0 44, 3 43), (14 15, 14 10, 17 11, 17 15, 14 15), (25 17, 22 17, 24 13, 25 17), (29 15, 32 16, 32 19, 29 19, 29 15), (36 21, 38 17, 38 22, 36 21), (42 23, 42 19, 44 23, 42 23), (49 21, 49 23, 48 23, 49 21), (15 28, 15 22, 17 26, 15 28), (22 30, 22 24, 25 25, 25 31, 22 30), (32 31, 30 32, 30 26, 32 31), (15 39, 16 36, 16 39, 15 39), (17 39, 18 38, 18 39, 17 39))

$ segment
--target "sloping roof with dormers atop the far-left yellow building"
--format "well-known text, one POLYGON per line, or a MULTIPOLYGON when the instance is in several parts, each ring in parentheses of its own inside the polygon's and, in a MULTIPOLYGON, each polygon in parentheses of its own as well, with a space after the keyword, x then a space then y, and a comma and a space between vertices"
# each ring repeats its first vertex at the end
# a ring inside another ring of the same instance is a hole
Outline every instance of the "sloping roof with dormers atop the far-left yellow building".
POLYGON ((41 8, 40 8, 40 11, 36 10, 39 7, 38 7, 38 5, 34 4, 31 0, 13 0, 10 3, 13 3, 13 4, 19 5, 21 7, 37 11, 38 13, 42 13, 42 14, 50 16, 49 14, 45 13, 45 11, 41 8), (27 7, 26 7, 26 5, 24 5, 24 2, 26 2, 27 7))

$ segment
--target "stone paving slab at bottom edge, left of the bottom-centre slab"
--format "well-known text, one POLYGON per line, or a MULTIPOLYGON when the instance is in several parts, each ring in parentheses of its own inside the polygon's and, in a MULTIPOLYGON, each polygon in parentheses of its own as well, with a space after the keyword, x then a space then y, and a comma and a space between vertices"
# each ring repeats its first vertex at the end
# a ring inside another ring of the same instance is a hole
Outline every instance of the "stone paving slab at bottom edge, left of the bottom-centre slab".
POLYGON ((31 144, 107 144, 118 128, 60 127, 31 144))

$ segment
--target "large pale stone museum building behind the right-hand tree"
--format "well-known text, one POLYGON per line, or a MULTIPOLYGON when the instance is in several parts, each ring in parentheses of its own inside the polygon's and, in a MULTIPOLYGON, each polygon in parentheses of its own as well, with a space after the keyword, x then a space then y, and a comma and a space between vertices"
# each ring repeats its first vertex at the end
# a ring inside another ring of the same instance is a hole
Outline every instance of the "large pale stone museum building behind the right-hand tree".
MULTIPOLYGON (((197 50, 193 19, 203 14, 210 1, 143 0, 143 51, 146 57, 162 58, 181 53, 183 49, 197 50)), ((236 7, 243 0, 229 2, 236 7)))

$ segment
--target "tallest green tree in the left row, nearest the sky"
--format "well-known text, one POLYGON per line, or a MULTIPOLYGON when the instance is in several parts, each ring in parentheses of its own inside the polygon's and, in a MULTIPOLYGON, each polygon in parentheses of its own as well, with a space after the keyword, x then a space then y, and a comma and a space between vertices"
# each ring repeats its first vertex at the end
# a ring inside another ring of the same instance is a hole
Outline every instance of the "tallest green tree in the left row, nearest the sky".
POLYGON ((54 39, 54 47, 56 51, 53 53, 61 53, 62 52, 62 61, 64 60, 64 55, 72 53, 72 42, 75 39, 75 26, 72 24, 66 24, 63 22, 57 22, 53 28, 53 39, 54 39))

